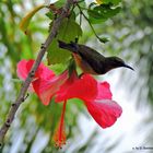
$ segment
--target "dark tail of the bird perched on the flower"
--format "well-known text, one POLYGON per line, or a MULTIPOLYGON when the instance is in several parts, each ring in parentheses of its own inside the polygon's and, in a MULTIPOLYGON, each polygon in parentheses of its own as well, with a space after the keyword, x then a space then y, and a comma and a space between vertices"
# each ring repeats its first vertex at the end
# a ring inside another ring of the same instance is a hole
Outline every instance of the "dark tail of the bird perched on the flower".
POLYGON ((78 52, 79 46, 76 43, 71 42, 70 44, 67 44, 62 40, 58 40, 59 47, 62 49, 70 50, 72 52, 78 52))

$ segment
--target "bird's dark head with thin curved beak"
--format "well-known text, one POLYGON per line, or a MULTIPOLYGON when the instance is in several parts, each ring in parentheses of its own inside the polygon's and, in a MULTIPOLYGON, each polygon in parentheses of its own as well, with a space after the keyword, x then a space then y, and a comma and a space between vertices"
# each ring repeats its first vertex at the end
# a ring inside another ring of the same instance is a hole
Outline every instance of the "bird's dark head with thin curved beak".
POLYGON ((118 57, 106 58, 106 69, 107 69, 107 71, 109 71, 111 69, 120 68, 120 67, 133 70, 132 67, 128 66, 122 59, 120 59, 118 57))

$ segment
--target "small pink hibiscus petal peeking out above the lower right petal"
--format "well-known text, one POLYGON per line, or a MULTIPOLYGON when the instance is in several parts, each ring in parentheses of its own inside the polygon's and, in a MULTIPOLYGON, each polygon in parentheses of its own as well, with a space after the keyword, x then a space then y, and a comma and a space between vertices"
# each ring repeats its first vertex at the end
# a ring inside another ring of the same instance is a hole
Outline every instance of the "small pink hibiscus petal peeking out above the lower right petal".
POLYGON ((113 94, 108 82, 97 83, 97 91, 96 99, 111 99, 113 94))

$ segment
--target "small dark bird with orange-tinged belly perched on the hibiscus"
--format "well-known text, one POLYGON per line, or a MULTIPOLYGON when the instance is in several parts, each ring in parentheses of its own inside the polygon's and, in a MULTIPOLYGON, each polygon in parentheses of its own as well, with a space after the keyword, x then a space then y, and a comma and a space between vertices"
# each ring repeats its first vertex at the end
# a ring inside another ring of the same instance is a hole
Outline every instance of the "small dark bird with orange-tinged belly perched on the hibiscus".
POLYGON ((119 57, 104 57, 93 48, 78 43, 64 43, 58 40, 59 48, 72 52, 75 63, 82 69, 83 73, 95 75, 105 74, 116 68, 128 68, 133 70, 119 57))

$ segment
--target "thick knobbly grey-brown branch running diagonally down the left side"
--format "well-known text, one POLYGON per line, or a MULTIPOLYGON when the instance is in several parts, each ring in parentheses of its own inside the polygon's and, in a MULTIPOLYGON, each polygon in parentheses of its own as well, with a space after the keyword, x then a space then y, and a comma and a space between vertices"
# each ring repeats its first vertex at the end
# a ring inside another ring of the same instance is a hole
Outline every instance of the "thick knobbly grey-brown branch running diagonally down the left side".
POLYGON ((4 123, 2 125, 1 129, 0 129, 0 145, 2 145, 3 139, 15 117, 15 114, 19 109, 19 107, 21 106, 21 104, 25 101, 26 96, 26 92, 27 89, 33 80, 33 76, 35 75, 35 72, 38 68, 38 66, 40 64, 40 61, 47 50, 47 48, 49 47, 49 45, 51 44, 52 39, 56 37, 59 26, 61 25, 62 20, 68 15, 68 12, 71 8, 71 5, 75 2, 75 0, 67 0, 67 3, 64 4, 61 14, 59 15, 59 17, 57 17, 54 22, 52 28, 46 39, 46 42, 42 45, 40 50, 38 52, 38 56, 26 78, 26 80, 24 81, 22 89, 19 93, 19 96, 16 98, 16 101, 11 105, 11 108, 9 110, 8 117, 4 121, 4 123))

